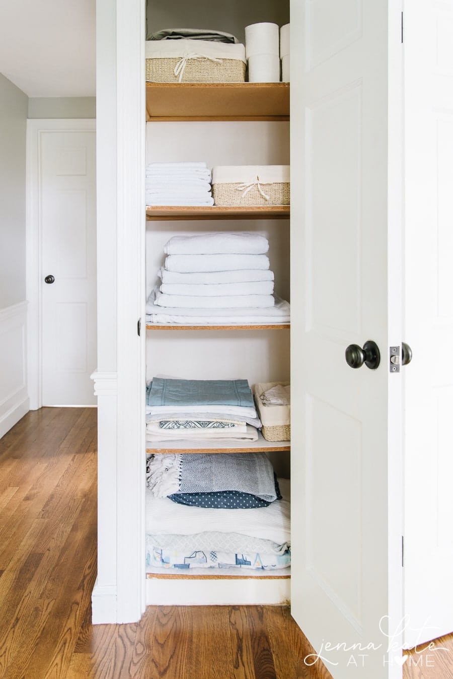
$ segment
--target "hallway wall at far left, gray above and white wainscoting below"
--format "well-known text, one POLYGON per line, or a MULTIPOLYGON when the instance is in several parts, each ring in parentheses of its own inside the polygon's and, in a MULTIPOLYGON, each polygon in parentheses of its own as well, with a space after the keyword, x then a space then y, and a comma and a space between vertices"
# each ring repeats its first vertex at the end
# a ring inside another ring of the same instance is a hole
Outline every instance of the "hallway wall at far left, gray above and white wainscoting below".
POLYGON ((0 437, 28 411, 25 160, 28 97, 0 74, 0 437))

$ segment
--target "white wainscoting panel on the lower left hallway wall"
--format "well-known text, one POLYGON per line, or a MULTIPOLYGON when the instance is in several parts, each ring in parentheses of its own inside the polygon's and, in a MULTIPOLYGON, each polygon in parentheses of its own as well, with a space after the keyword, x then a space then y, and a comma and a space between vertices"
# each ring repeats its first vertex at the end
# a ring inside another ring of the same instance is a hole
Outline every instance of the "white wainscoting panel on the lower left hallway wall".
POLYGON ((26 301, 0 310, 0 437, 28 413, 26 301))

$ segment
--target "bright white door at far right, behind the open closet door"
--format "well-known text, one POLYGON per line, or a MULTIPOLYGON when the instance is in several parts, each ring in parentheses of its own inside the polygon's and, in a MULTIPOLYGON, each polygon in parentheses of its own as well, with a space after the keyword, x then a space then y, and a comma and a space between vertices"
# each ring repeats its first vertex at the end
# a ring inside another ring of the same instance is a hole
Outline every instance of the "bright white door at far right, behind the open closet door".
POLYGON ((404 11, 407 648, 453 631, 453 2, 404 11))

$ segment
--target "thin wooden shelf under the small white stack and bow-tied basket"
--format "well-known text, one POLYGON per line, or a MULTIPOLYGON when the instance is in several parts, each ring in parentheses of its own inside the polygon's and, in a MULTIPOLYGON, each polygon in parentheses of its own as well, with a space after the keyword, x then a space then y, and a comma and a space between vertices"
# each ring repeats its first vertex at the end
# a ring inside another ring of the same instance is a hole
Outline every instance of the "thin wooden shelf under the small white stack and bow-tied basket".
POLYGON ((290 219, 290 206, 159 205, 146 207, 146 221, 180 221, 182 219, 290 219))

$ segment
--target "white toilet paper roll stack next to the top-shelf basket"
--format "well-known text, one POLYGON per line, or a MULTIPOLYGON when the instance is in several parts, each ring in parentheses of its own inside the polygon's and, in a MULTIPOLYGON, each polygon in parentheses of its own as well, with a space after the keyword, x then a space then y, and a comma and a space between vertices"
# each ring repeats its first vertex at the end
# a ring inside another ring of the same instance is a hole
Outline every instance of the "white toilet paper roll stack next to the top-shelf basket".
POLYGON ((273 83, 280 80, 279 27, 260 23, 245 26, 245 56, 251 83, 273 83))

